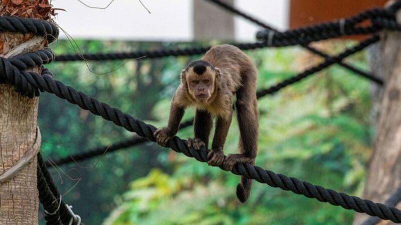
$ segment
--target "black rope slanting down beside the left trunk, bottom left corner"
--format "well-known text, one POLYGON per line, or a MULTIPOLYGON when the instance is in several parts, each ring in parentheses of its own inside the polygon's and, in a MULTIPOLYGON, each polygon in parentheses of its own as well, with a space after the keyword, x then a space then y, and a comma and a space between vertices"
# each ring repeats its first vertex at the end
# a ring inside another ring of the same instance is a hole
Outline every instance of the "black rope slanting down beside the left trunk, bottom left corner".
MULTIPOLYGON (((53 178, 50 175, 50 172, 49 172, 40 152, 38 153, 38 173, 39 173, 39 171, 42 173, 42 176, 45 178, 45 182, 47 184, 47 188, 44 188, 44 187, 39 188, 38 187, 39 192, 49 192, 48 190, 50 190, 50 192, 52 193, 52 195, 54 197, 59 198, 61 195, 60 195, 59 191, 57 190, 56 184, 54 183, 53 178)), ((39 175, 38 175, 38 177, 39 177, 39 175)), ((54 199, 51 200, 51 202, 53 202, 53 201, 54 201, 54 199)), ((53 203, 53 205, 55 205, 55 204, 57 206, 59 206, 59 204, 60 204, 60 207, 58 208, 58 215, 60 217, 60 221, 62 222, 62 224, 65 224, 65 225, 69 224, 69 222, 73 218, 73 215, 69 212, 67 205, 65 204, 63 199, 58 199, 55 203, 53 203), (60 202, 60 200, 61 200, 61 202, 60 202)), ((47 210, 47 211, 49 211, 49 210, 47 210)), ((49 212, 54 212, 54 211, 55 210, 52 210, 49 212)), ((47 222, 50 222, 50 221, 47 220, 47 222)), ((52 224, 52 223, 50 222, 49 224, 52 224)))

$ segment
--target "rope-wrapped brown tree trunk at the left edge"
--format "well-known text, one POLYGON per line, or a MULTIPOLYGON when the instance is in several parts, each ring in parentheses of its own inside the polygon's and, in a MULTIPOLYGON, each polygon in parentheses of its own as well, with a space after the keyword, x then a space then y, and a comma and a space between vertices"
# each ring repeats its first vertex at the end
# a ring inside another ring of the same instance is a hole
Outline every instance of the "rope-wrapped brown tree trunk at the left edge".
MULTIPOLYGON (((0 15, 48 18, 48 0, 0 1, 0 15), (42 6, 39 4, 42 3, 42 6)), ((11 57, 44 48, 47 40, 33 34, 0 33, 0 56, 11 57)), ((32 69, 39 71, 39 68, 32 69)), ((14 86, 0 84, 0 174, 8 171, 31 148, 39 148, 37 129, 39 98, 15 92, 14 86)), ((0 183, 0 224, 38 224, 37 158, 12 179, 0 183)))

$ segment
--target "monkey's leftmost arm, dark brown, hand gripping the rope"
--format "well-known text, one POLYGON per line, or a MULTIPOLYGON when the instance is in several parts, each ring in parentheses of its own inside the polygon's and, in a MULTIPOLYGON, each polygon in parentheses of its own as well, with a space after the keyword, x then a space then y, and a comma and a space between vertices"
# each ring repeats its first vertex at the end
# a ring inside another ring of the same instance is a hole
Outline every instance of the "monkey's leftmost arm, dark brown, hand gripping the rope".
POLYGON ((162 146, 166 146, 168 140, 175 136, 178 131, 179 123, 181 122, 182 116, 185 112, 185 108, 177 104, 174 98, 175 96, 171 102, 167 127, 157 129, 153 134, 156 138, 156 142, 162 146))

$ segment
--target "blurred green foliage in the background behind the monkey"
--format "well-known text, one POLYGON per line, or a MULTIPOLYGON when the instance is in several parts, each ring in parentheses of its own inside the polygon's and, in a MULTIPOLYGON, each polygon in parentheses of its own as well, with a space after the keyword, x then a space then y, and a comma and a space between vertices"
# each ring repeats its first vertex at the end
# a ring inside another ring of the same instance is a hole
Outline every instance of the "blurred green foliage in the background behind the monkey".
MULTIPOLYGON (((82 52, 186 47, 200 43, 84 41, 82 52)), ((317 45, 332 53, 353 42, 317 45)), ((71 42, 51 46, 71 52, 71 42)), ((266 88, 321 61, 298 47, 247 51, 266 88)), ((64 83, 157 127, 165 126, 180 70, 194 57, 107 62, 54 62, 64 83)), ((346 61, 367 69, 364 52, 346 61)), ((259 101, 256 164, 338 191, 361 195, 371 154, 370 83, 335 65, 259 101)), ((188 110, 184 116, 193 116, 188 110)), ((39 122, 47 158, 64 157, 134 134, 66 101, 42 94, 39 122)), ((235 119, 226 153, 237 152, 235 119)), ((192 128, 180 130, 182 138, 192 128)), ((235 196, 239 176, 145 143, 61 168, 52 175, 86 224, 349 224, 353 212, 255 182, 250 199, 235 196)))

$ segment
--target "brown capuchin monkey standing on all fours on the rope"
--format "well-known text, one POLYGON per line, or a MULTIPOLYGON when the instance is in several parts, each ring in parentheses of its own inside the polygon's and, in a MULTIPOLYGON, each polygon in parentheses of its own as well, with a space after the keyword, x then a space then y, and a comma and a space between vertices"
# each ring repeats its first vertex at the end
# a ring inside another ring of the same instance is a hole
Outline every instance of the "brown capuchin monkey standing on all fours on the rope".
MULTIPOLYGON (((168 125, 154 132, 156 142, 166 146, 178 131, 188 106, 196 108, 194 138, 189 147, 208 147, 209 135, 216 117, 216 129, 208 164, 232 170, 236 163, 255 164, 258 148, 258 108, 256 98, 257 69, 238 47, 223 44, 212 47, 202 59, 192 61, 181 71, 181 83, 174 93, 168 125), (223 147, 233 116, 233 97, 240 128, 239 154, 224 156, 223 147)), ((241 177, 237 197, 245 202, 252 180, 241 177)))

